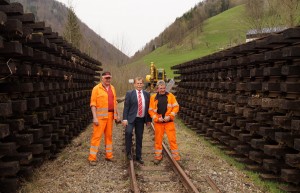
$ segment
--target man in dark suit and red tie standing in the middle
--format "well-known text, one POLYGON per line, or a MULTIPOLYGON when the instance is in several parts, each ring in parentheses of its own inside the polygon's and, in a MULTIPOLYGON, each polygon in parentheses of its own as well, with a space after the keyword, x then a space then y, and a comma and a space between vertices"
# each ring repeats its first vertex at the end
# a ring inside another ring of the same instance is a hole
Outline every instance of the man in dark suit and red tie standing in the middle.
POLYGON ((144 124, 151 124, 151 118, 148 113, 150 94, 143 91, 143 78, 134 79, 135 90, 127 91, 124 102, 123 121, 125 127, 125 145, 127 159, 131 160, 132 131, 135 128, 136 138, 136 161, 143 164, 142 160, 142 141, 144 133, 144 124))

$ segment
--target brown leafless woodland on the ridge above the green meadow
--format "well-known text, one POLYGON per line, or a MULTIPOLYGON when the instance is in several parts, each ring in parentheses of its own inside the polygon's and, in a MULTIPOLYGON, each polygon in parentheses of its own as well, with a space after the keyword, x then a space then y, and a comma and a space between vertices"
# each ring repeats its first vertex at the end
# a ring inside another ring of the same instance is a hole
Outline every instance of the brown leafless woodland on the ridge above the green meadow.
POLYGON ((195 36, 190 37, 189 41, 191 44, 196 44, 195 39, 201 35, 205 20, 245 2, 246 0, 203 0, 199 2, 198 5, 191 10, 187 10, 161 34, 148 42, 142 50, 136 52, 132 60, 145 56, 164 45, 169 48, 181 45, 186 36, 194 30, 197 33, 195 36))

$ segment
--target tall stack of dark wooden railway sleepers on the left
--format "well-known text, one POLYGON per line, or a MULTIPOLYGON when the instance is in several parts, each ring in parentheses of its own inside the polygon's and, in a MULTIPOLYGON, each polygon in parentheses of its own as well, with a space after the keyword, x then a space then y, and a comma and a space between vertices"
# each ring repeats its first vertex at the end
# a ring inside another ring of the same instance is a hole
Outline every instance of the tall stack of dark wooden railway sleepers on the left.
POLYGON ((90 122, 101 63, 0 0, 0 192, 55 157, 90 122))

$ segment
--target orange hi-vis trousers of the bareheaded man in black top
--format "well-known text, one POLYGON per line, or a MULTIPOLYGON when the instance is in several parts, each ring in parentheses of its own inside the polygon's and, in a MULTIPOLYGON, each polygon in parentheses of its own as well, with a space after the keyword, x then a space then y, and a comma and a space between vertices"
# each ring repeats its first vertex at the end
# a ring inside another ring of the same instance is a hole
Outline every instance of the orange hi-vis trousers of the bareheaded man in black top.
POLYGON ((176 131, 174 122, 167 123, 154 123, 155 128, 155 156, 154 159, 161 160, 162 159, 162 142, 164 133, 166 132, 172 156, 175 160, 180 160, 178 146, 176 142, 176 131))

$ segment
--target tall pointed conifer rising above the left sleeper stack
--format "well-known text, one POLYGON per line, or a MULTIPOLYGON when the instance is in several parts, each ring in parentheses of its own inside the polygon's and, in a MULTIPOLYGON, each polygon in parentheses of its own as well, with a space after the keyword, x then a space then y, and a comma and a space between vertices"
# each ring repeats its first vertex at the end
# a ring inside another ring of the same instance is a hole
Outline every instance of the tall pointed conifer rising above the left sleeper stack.
POLYGON ((64 38, 73 44, 76 48, 80 48, 80 42, 82 39, 78 18, 74 12, 74 8, 70 6, 68 9, 68 19, 65 24, 63 32, 64 38))

